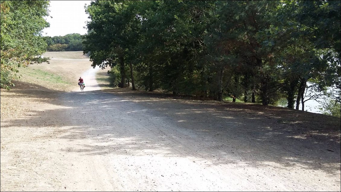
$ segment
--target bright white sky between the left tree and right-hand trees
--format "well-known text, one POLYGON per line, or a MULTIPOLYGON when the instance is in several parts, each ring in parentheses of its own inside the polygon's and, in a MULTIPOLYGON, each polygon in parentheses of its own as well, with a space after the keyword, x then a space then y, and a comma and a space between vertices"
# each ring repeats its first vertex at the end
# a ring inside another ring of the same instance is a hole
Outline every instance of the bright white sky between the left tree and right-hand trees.
POLYGON ((85 22, 88 21, 88 16, 85 13, 84 5, 89 5, 91 0, 78 1, 50 1, 50 16, 45 20, 50 23, 49 28, 43 30, 43 36, 64 36, 70 33, 79 33, 84 35, 87 30, 85 22))

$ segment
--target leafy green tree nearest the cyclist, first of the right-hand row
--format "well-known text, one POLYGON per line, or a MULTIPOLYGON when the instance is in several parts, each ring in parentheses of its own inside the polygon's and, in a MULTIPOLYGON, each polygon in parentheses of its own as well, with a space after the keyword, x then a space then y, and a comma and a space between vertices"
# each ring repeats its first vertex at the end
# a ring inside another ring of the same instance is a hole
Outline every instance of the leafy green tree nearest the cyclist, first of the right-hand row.
POLYGON ((126 70, 124 65, 130 65, 132 85, 134 75, 132 60, 129 56, 130 47, 137 42, 140 20, 133 1, 96 1, 86 8, 91 21, 88 22, 88 34, 83 44, 84 53, 90 51, 92 66, 114 67, 120 65, 121 86, 124 87, 126 70))

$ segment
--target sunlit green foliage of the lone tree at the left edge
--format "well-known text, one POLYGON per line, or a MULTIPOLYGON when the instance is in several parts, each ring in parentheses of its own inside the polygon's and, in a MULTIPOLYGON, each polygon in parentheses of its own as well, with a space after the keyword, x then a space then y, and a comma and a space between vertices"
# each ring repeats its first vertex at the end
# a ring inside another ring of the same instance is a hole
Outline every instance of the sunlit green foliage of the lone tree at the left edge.
POLYGON ((41 35, 49 24, 44 20, 48 16, 49 1, 0 1, 0 86, 10 89, 12 79, 18 79, 18 68, 29 64, 47 62, 40 57, 46 49, 41 35))

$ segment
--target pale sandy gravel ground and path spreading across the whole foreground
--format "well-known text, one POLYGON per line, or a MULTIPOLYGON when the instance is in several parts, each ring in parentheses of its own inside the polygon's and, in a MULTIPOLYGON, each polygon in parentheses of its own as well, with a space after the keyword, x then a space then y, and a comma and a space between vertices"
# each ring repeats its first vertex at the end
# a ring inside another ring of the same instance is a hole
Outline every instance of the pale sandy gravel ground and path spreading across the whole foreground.
POLYGON ((1 191, 340 191, 326 116, 100 90, 96 71, 84 92, 15 92, 36 105, 1 116, 1 191))

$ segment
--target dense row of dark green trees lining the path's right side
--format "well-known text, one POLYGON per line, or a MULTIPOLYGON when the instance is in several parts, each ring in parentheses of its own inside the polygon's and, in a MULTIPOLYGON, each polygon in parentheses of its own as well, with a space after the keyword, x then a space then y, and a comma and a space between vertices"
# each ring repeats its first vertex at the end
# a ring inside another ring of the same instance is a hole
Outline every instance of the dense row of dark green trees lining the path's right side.
POLYGON ((94 1, 86 12, 93 67, 119 65, 122 82, 133 64, 149 91, 215 100, 253 92, 290 108, 307 100, 307 82, 340 92, 340 1, 94 1))

